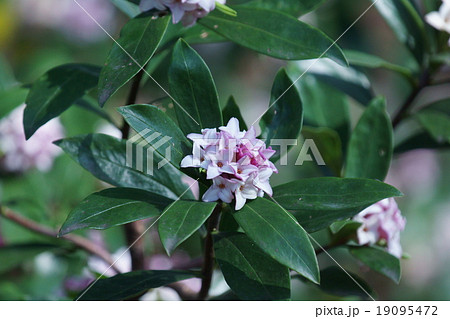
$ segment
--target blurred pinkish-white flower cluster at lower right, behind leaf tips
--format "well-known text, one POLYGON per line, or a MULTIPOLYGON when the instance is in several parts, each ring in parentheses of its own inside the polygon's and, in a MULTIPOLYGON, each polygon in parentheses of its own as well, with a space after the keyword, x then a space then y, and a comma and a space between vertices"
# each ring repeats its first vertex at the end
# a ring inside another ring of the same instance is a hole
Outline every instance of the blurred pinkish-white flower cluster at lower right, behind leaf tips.
POLYGON ((387 251, 401 258, 400 232, 405 229, 406 219, 393 198, 383 199, 367 207, 353 220, 361 223, 357 230, 360 245, 386 243, 387 251))

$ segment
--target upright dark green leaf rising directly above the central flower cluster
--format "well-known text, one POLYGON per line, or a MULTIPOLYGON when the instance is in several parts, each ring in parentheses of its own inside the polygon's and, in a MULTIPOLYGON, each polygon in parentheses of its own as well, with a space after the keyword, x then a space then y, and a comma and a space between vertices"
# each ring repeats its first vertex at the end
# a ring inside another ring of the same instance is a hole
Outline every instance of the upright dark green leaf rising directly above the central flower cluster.
POLYGON ((182 39, 173 50, 169 85, 178 123, 185 134, 223 124, 211 72, 200 55, 182 39))

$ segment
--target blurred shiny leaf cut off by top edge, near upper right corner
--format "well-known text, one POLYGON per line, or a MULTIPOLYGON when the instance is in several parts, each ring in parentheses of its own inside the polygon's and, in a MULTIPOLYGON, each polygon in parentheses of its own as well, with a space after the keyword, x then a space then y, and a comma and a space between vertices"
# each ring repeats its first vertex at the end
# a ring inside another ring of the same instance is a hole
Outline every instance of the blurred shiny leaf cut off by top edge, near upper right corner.
POLYGON ((406 45, 421 65, 427 46, 425 24, 411 1, 383 0, 376 1, 375 6, 399 41, 406 45))

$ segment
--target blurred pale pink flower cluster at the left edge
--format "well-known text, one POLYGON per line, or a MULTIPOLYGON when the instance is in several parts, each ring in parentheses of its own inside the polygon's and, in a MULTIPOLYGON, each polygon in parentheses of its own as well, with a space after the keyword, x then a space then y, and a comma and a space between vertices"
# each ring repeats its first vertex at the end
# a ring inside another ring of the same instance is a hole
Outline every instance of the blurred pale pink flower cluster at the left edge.
POLYGON ((22 124, 24 109, 25 104, 0 120, 0 168, 10 173, 31 168, 48 171, 61 153, 52 142, 64 137, 64 128, 58 119, 53 119, 27 141, 22 124))

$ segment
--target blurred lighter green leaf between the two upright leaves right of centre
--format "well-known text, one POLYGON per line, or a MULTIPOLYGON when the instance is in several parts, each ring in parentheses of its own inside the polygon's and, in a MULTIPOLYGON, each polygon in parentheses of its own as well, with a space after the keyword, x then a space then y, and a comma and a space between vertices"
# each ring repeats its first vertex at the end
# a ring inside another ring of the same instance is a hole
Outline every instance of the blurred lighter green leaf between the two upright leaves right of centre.
POLYGON ((339 134, 342 146, 345 147, 350 137, 351 122, 348 98, 342 92, 308 74, 297 82, 297 87, 304 105, 305 125, 335 130, 339 134))

